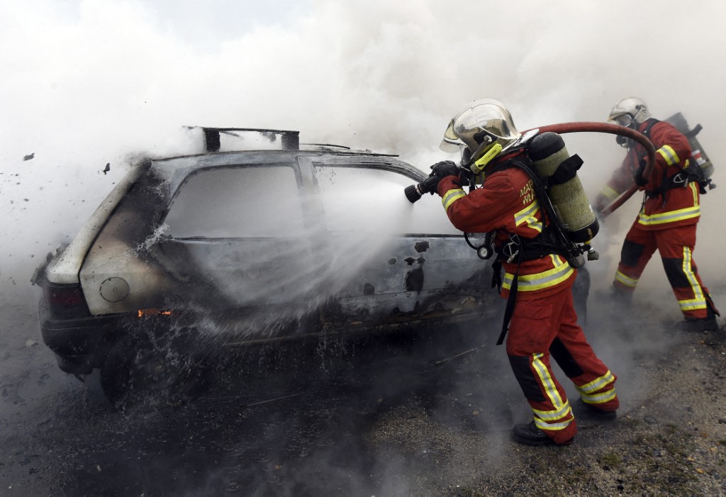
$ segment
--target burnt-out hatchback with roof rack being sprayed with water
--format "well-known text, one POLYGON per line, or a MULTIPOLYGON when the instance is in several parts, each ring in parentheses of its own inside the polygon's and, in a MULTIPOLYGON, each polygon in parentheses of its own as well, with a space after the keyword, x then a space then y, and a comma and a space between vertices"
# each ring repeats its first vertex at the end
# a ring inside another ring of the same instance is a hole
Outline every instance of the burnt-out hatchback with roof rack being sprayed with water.
POLYGON ((205 152, 139 160, 33 275, 60 369, 98 373, 113 403, 191 393, 211 350, 446 326, 497 307, 489 264, 439 200, 404 197, 419 169, 300 144, 297 131, 197 131, 205 152), (250 135, 250 149, 220 151, 250 135))

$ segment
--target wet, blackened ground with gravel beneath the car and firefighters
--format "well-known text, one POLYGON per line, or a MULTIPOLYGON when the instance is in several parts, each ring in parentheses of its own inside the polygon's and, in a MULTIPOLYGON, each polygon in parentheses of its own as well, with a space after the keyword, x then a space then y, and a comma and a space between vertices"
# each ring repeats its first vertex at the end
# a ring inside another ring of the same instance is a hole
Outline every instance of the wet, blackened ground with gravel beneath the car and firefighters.
POLYGON ((118 412, 57 368, 31 305, 6 306, 0 496, 725 492, 726 341, 611 311, 588 336, 619 419, 529 448, 498 320, 228 357, 196 401, 118 412))

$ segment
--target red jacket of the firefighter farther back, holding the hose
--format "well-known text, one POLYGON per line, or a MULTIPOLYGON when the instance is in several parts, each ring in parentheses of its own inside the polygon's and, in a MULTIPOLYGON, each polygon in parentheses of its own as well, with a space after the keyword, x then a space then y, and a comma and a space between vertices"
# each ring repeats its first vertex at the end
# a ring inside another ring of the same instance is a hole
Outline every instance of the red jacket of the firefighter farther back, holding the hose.
MULTIPOLYGON (((655 120, 649 119, 640 123, 637 131, 643 133, 653 121, 655 120)), ((668 183, 670 178, 688 167, 691 152, 688 138, 665 121, 655 121, 648 135, 656 147, 656 165, 653 166, 648 184, 639 188, 645 190, 646 200, 637 222, 643 229, 648 230, 698 223, 698 218, 701 216, 701 201, 697 183, 683 182, 683 186, 669 188, 659 194, 659 189, 668 183)), ((647 160, 647 155, 640 144, 628 149, 620 168, 613 172, 610 181, 601 190, 600 198, 615 200, 622 192, 629 189, 633 184, 632 176, 643 159, 647 160)))

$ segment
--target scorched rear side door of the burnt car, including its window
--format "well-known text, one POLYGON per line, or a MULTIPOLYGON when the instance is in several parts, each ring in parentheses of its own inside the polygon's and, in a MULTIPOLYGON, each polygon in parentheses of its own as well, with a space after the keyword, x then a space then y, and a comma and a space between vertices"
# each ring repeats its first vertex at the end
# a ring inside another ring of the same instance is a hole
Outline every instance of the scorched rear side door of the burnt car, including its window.
POLYGON ((155 257, 179 282, 176 300, 216 314, 268 313, 300 300, 314 271, 302 196, 295 163, 192 173, 155 244, 155 257))

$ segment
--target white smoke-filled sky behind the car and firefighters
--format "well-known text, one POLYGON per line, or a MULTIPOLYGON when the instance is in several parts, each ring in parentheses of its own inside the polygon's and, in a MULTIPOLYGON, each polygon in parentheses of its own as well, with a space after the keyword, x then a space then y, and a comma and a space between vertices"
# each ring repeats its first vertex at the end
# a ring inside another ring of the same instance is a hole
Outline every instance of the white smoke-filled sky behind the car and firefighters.
MULTIPOLYGON (((696 260, 722 271, 726 4, 452 5, 0 2, 5 295, 28 289, 39 260, 70 241, 134 157, 197 150, 184 126, 296 129, 303 142, 396 153, 427 170, 456 158, 438 149, 444 128, 463 104, 485 97, 507 104, 520 130, 603 121, 623 96, 642 97, 655 117, 680 111, 701 123, 699 140, 723 186, 703 198, 696 260)), ((611 135, 566 141, 584 159, 582 181, 594 194, 624 150, 611 135)), ((603 254, 619 250, 637 208, 631 200, 609 218, 597 239, 603 254)), ((645 276, 662 282, 659 269, 645 276)))

